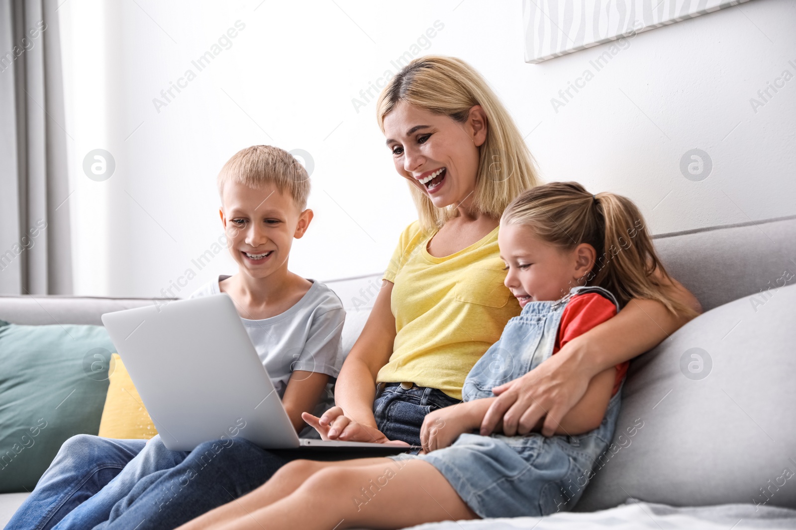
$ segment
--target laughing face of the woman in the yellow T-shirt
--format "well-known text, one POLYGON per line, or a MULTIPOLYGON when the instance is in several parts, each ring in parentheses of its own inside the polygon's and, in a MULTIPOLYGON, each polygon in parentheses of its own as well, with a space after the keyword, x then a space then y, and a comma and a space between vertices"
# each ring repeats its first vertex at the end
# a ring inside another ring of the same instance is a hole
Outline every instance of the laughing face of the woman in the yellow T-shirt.
POLYGON ((473 106, 466 122, 458 123, 401 102, 384 118, 384 135, 398 174, 435 207, 459 206, 475 191, 478 147, 486 141, 481 106, 473 106))

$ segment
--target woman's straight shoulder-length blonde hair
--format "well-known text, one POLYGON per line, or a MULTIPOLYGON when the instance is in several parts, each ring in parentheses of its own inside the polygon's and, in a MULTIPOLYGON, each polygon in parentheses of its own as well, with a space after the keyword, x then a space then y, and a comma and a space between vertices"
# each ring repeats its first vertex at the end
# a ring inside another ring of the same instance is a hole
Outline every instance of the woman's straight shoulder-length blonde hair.
MULTIPOLYGON (((379 95, 377 122, 384 132, 384 117, 398 103, 442 114, 464 123, 470 108, 482 106, 487 120, 486 141, 479 149, 473 206, 499 218, 523 190, 538 184, 533 157, 507 110, 470 64, 445 56, 423 56, 398 72, 379 95)), ((457 215, 456 205, 437 208, 423 191, 407 183, 417 207, 420 225, 438 230, 457 215)))

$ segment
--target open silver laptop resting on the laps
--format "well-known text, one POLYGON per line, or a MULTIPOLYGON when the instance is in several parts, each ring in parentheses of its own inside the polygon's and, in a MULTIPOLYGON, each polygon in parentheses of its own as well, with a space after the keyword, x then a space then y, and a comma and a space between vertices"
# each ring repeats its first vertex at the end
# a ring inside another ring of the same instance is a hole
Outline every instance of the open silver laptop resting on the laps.
POLYGON ((386 456, 419 448, 299 439, 226 293, 105 313, 102 322, 172 451, 236 436, 265 449, 360 447, 386 456))

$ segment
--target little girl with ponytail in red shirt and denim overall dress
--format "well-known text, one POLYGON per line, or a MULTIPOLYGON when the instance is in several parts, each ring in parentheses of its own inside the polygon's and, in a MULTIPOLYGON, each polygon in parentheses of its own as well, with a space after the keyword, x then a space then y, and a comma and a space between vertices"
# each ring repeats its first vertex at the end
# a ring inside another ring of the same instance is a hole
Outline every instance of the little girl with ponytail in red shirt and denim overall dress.
MULTIPOLYGON (((492 389, 633 298, 658 300, 675 315, 694 311, 658 294, 653 271, 668 276, 638 208, 624 197, 591 195, 576 183, 532 188, 506 208, 498 242, 521 315, 470 370, 463 402, 426 416, 423 451, 291 462, 259 489, 181 528, 404 528, 572 509, 611 442, 627 363, 595 376, 550 438, 537 432, 541 421, 525 436, 475 434, 496 399, 492 389)), ((329 434, 324 417, 304 418, 329 434)))

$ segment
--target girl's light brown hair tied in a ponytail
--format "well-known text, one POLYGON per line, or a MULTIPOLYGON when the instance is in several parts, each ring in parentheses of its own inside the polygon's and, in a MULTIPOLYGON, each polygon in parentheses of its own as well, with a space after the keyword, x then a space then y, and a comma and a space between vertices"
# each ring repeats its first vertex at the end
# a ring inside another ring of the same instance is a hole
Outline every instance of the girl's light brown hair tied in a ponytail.
POLYGON ((593 246, 595 264, 579 284, 606 288, 622 306, 633 298, 646 298, 661 302, 674 315, 697 315, 665 295, 661 280, 671 277, 630 199, 613 193, 591 195, 576 182, 552 182, 525 191, 506 207, 501 225, 515 224, 529 226, 537 237, 564 250, 581 243, 593 246), (661 279, 653 275, 656 269, 661 279))

